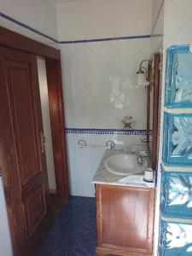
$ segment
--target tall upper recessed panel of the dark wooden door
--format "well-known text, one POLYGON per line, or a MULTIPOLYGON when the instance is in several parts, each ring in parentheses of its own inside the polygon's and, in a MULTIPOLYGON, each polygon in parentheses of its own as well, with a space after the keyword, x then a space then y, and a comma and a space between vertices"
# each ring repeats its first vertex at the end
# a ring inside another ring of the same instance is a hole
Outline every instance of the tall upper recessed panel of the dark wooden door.
POLYGON ((14 107, 12 119, 15 125, 16 149, 20 155, 20 183, 27 183, 40 171, 38 161, 37 125, 32 106, 32 84, 30 81, 30 64, 5 61, 9 104, 14 107), (26 86, 28 84, 29 86, 26 86), (23 136, 25 134, 25 136, 23 136), (32 154, 30 154, 32 153, 32 154))

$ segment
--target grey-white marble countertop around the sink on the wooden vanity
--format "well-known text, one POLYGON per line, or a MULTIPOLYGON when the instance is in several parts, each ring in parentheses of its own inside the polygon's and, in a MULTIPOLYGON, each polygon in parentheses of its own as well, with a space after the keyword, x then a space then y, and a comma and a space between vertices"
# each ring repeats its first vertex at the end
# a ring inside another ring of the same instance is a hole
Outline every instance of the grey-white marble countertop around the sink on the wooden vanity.
POLYGON ((92 180, 95 184, 108 184, 108 185, 118 185, 118 186, 134 186, 134 187, 145 187, 154 188, 153 183, 147 183, 143 181, 143 173, 137 175, 118 175, 108 172, 104 167, 104 160, 106 160, 110 155, 124 153, 120 149, 107 149, 103 154, 102 161, 97 168, 96 175, 92 180))

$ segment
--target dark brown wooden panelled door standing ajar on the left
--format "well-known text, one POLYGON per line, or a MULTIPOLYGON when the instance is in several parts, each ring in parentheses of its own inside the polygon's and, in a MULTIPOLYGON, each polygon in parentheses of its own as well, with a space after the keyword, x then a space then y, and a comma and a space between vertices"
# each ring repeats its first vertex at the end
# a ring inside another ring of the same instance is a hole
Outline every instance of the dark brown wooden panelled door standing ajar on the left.
POLYGON ((15 256, 33 255, 49 226, 35 55, 0 47, 0 161, 15 256))

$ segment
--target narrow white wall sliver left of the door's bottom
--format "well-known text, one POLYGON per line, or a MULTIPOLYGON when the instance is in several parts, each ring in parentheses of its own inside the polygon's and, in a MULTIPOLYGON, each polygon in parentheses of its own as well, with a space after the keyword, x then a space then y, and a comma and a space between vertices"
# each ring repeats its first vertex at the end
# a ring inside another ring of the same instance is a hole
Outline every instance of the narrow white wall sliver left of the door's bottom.
POLYGON ((12 256, 12 246, 9 234, 9 224, 5 205, 2 177, 0 177, 0 256, 12 256))

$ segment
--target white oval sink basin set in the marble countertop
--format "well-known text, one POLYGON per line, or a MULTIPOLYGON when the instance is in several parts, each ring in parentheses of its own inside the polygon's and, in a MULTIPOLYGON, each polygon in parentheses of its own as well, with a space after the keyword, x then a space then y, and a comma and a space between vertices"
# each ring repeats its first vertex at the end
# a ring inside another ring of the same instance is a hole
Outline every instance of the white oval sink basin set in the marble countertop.
POLYGON ((148 162, 144 159, 143 164, 138 165, 136 154, 113 154, 104 161, 104 166, 108 172, 131 175, 144 172, 148 162))

